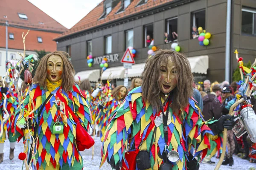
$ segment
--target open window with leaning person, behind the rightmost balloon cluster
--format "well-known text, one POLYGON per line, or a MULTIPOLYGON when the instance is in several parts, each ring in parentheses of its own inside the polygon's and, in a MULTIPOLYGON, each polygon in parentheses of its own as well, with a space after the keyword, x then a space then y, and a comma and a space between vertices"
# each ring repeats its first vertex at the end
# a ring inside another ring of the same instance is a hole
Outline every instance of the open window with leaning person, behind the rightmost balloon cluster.
POLYGON ((203 30, 205 29, 205 10, 195 11, 191 13, 191 39, 195 39, 198 37, 198 27, 202 27, 203 30))

